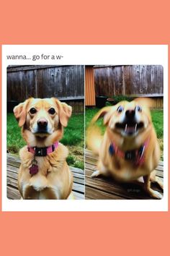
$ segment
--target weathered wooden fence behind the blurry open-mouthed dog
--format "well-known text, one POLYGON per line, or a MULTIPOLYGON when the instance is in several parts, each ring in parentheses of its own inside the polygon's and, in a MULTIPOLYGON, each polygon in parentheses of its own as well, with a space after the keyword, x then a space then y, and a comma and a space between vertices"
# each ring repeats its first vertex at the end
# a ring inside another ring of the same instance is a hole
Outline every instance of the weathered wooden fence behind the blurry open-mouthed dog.
POLYGON ((152 97, 163 107, 164 70, 161 65, 94 66, 96 96, 152 97))

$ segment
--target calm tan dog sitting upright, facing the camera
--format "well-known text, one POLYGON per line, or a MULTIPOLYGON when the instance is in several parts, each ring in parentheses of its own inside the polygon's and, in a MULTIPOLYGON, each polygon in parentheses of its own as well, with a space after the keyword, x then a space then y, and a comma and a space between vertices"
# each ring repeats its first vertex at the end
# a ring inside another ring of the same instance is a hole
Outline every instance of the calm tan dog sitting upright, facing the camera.
POLYGON ((23 199, 73 199, 68 149, 59 140, 72 108, 57 98, 29 98, 14 107, 27 145, 19 150, 19 192, 23 199))

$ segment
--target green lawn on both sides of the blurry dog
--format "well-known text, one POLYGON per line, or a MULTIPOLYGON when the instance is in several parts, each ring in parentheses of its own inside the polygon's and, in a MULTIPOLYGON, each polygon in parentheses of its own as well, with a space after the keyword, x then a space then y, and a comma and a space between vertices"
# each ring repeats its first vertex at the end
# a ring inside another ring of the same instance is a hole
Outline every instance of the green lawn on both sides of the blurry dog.
MULTIPOLYGON (((99 111, 99 108, 86 108, 86 127, 88 127, 91 119, 97 112, 99 111)), ((163 150, 164 150, 164 111, 163 110, 151 110, 151 116, 153 125, 156 129, 156 134, 158 137, 158 142, 161 148, 161 160, 163 160, 163 150)), ((104 125, 103 125, 103 119, 99 119, 97 121, 97 124, 99 127, 102 128, 102 132, 104 132, 104 125)))

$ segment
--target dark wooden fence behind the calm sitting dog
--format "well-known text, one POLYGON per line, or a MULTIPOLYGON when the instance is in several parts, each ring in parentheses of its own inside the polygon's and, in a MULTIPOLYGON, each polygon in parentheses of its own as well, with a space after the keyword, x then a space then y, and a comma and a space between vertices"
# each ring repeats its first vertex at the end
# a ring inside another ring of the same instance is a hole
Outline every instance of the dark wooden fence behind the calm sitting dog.
POLYGON ((7 101, 56 97, 84 112, 84 66, 9 66, 7 101))

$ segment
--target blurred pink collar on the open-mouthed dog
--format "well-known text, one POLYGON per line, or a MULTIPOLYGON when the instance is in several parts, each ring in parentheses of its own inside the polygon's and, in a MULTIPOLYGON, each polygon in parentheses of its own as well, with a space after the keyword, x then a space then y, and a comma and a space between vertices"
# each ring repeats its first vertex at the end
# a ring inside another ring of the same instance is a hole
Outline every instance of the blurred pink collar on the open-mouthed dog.
POLYGON ((143 143, 137 150, 129 150, 129 151, 122 151, 120 150, 115 142, 111 142, 109 145, 109 154, 110 155, 118 155, 120 158, 125 158, 126 161, 133 161, 135 166, 141 166, 144 162, 144 153, 146 148, 148 147, 150 138, 143 143))

